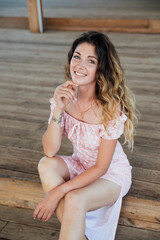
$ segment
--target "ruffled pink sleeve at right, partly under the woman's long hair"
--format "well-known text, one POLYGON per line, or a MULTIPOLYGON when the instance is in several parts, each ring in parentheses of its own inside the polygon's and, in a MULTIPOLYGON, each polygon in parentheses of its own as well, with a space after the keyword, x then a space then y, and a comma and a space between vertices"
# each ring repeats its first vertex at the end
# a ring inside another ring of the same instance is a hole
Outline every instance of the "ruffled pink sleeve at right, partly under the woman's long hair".
POLYGON ((124 130, 124 123, 127 120, 127 116, 122 112, 119 118, 108 121, 107 131, 102 125, 100 129, 100 137, 103 139, 118 139, 124 130))

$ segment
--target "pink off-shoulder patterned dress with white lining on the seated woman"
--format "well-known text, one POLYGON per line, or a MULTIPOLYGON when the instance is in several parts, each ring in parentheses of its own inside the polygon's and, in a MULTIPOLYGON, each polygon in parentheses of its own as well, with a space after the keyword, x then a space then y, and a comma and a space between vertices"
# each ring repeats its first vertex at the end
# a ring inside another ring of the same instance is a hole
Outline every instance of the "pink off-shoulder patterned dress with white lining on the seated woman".
MULTIPOLYGON (((48 123, 52 119, 53 109, 56 106, 53 98, 50 99, 50 103, 51 114, 48 123)), ((85 123, 63 112, 61 127, 64 126, 64 134, 72 142, 73 154, 72 156, 60 155, 60 157, 66 162, 71 179, 96 163, 101 138, 118 139, 123 134, 126 120, 127 116, 122 112, 119 119, 109 121, 109 134, 107 134, 103 124, 85 123)), ((110 167, 101 178, 121 185, 121 193, 113 204, 87 212, 85 234, 89 240, 115 239, 122 198, 128 193, 132 184, 131 170, 132 166, 121 144, 117 141, 110 167)))

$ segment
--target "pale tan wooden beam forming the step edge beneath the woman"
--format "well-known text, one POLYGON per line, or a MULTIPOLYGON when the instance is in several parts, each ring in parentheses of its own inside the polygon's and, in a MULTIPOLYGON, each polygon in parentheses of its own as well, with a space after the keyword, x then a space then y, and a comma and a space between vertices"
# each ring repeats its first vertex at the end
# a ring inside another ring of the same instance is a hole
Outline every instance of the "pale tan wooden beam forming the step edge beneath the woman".
MULTIPOLYGON (((0 178, 0 195, 2 205, 35 209, 44 193, 40 182, 0 178)), ((126 195, 123 198, 119 223, 158 231, 160 229, 160 202, 126 195)))

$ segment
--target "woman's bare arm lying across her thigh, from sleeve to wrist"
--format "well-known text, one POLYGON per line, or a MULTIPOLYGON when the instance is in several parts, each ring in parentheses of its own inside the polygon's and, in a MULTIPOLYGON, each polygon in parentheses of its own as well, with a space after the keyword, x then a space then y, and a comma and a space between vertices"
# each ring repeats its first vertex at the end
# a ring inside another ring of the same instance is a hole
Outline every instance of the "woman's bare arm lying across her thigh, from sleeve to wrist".
POLYGON ((117 139, 102 139, 96 164, 80 175, 60 185, 59 190, 62 192, 62 195, 66 195, 71 190, 85 187, 103 176, 110 166, 116 144, 117 139))

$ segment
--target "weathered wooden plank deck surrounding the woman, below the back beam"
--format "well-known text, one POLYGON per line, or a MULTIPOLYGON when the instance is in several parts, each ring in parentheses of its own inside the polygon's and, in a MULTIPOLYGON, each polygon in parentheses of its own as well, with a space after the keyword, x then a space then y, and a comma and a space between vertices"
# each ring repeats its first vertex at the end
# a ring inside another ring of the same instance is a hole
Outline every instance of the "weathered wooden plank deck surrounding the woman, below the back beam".
MULTIPOLYGON (((39 184, 37 163, 43 156, 41 136, 50 112, 48 100, 64 82, 66 54, 78 35, 78 32, 31 34, 27 30, 0 29, 0 239, 58 239, 60 224, 55 216, 49 223, 34 221, 30 210, 34 205, 23 200, 26 209, 15 208, 22 206, 19 192, 15 190, 13 195, 9 192, 13 186, 18 189, 18 184, 24 191, 27 184, 39 184)), ((134 209, 125 220, 125 213, 121 215, 116 240, 158 240, 160 35, 108 35, 117 47, 126 81, 141 112, 134 151, 131 153, 124 146, 133 166, 133 183, 126 199, 151 202, 150 209, 141 205, 141 212, 146 214, 144 225, 143 219, 132 220, 134 209)), ((72 146, 63 137, 59 154, 71 153, 72 146)), ((134 214, 138 216, 139 212, 134 214)))

